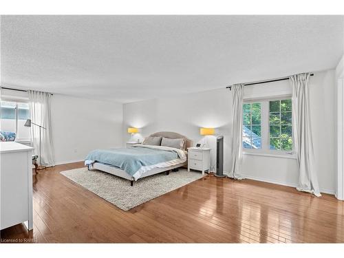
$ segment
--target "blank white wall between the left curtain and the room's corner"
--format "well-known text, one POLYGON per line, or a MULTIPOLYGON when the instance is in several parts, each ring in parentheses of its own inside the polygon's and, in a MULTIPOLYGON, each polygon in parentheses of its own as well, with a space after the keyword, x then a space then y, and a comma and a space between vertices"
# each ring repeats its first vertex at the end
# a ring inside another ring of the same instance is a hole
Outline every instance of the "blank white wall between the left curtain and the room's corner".
POLYGON ((54 94, 51 108, 56 164, 122 145, 122 104, 54 94))

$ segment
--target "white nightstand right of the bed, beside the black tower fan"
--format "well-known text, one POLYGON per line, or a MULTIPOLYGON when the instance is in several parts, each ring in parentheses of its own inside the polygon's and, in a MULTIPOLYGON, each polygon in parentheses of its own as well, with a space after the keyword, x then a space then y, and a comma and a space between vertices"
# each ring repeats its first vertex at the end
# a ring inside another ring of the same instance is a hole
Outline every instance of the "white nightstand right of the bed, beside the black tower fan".
POLYGON ((211 149, 208 148, 188 148, 188 171, 195 169, 204 171, 211 168, 211 149))

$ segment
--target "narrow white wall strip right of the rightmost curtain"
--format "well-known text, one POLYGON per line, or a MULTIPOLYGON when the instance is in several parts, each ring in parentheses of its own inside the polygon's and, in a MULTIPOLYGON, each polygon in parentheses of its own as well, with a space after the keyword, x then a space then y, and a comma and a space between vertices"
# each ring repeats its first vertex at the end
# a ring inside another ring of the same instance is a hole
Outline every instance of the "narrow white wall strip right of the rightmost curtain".
POLYGON ((314 74, 310 91, 314 162, 320 189, 335 192, 336 182, 336 80, 334 70, 314 74))

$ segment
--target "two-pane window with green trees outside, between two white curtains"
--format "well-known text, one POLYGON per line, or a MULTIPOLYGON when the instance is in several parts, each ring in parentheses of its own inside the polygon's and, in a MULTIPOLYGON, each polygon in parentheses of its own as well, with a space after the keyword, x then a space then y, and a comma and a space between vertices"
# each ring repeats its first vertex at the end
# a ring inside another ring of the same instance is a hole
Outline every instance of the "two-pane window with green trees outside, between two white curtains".
POLYGON ((292 100, 280 98, 243 105, 243 148, 255 153, 292 151, 292 100))

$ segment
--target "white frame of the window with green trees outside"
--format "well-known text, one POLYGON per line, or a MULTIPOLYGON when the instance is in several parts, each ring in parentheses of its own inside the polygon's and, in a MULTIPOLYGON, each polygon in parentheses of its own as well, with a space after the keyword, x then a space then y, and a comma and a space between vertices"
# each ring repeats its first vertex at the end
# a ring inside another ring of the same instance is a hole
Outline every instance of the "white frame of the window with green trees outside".
MULTIPOLYGON (((291 95, 273 96, 265 98, 247 98, 243 104, 260 103, 261 104, 261 149, 245 149, 245 155, 264 155, 280 158, 296 158, 294 155, 294 142, 292 142, 292 151, 281 151, 270 149, 270 101, 291 99, 291 95)), ((293 116, 293 111, 292 111, 293 116)), ((294 125, 292 124, 292 133, 294 133, 294 125)))

